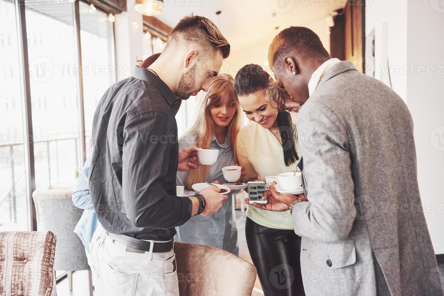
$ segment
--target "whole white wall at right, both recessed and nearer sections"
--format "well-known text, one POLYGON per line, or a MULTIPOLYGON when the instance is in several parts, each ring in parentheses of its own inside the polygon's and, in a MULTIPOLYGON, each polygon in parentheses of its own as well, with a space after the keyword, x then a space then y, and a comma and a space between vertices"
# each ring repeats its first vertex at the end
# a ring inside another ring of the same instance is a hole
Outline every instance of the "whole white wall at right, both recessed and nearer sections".
POLYGON ((365 30, 368 34, 376 28, 376 78, 384 76, 388 56, 393 90, 412 114, 421 201, 435 253, 443 254, 444 9, 438 4, 439 0, 369 1, 365 30), (385 25, 387 55, 381 54, 385 25))

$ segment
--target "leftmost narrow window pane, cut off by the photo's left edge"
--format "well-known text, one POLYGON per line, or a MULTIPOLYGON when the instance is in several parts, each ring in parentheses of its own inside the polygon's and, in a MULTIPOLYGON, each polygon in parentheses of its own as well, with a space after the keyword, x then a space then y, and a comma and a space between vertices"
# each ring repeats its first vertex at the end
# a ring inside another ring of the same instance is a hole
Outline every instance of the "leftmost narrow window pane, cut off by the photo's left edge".
POLYGON ((15 14, 0 0, 0 231, 28 230, 29 216, 15 14))

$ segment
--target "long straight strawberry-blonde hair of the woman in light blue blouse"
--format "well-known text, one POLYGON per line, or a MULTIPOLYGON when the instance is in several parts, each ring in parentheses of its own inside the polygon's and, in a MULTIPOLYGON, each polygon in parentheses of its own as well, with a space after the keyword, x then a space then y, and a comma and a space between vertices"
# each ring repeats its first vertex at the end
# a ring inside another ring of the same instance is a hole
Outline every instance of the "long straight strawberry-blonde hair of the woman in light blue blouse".
MULTIPOLYGON (((211 118, 210 108, 217 105, 222 99, 233 100, 236 112, 226 127, 228 129, 228 139, 234 152, 234 162, 238 162, 236 153, 236 138, 241 127, 241 107, 234 95, 234 79, 229 74, 219 74, 211 80, 210 87, 206 95, 199 103, 196 120, 193 126, 183 135, 183 137, 196 136, 196 146, 202 149, 209 149, 214 137, 214 121, 211 118)), ((191 171, 186 178, 185 187, 191 190, 191 185, 203 182, 210 173, 210 166, 200 166, 191 171)), ((210 180, 210 182, 213 180, 210 180)))

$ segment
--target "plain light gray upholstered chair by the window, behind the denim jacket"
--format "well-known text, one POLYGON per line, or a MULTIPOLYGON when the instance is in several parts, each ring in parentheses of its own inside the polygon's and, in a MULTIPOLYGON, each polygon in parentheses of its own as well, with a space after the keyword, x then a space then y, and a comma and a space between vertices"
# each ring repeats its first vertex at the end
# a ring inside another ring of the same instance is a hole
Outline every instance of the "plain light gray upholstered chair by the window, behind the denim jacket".
POLYGON ((37 229, 51 231, 57 236, 54 270, 89 269, 85 248, 74 233, 83 209, 72 203, 72 190, 36 190, 32 199, 36 204, 37 229))

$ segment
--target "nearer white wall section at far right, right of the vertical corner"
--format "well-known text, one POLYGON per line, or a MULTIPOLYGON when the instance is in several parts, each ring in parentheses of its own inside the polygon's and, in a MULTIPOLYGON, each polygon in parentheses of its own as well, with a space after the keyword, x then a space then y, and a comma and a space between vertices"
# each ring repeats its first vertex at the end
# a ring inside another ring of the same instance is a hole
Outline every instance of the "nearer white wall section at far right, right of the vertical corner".
POLYGON ((426 2, 408 1, 407 106, 415 125, 425 217, 435 253, 444 254, 444 9, 426 2))

